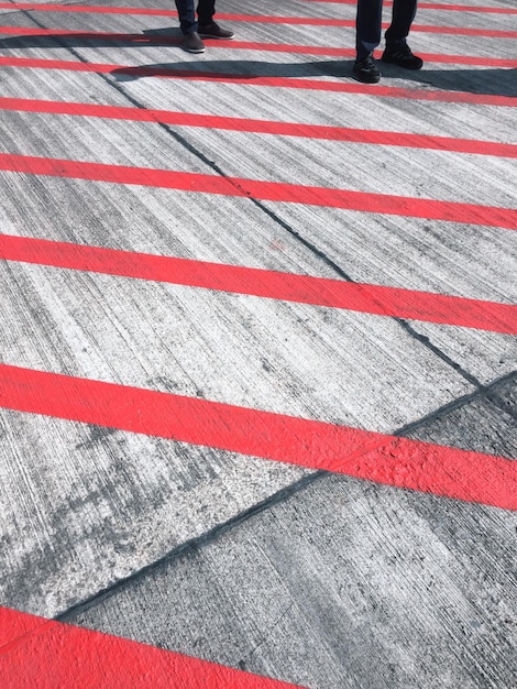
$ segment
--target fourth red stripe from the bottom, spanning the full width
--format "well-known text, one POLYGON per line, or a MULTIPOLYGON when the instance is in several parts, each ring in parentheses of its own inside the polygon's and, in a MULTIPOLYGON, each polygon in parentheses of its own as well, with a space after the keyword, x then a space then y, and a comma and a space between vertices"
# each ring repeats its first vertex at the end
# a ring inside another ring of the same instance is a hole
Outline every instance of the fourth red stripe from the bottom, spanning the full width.
POLYGON ((446 220, 517 229, 517 210, 455 201, 438 201, 348 189, 309 187, 241 177, 220 177, 168 169, 84 163, 28 155, 0 154, 0 169, 116 184, 134 184, 184 192, 251 197, 268 201, 345 208, 363 212, 446 220))

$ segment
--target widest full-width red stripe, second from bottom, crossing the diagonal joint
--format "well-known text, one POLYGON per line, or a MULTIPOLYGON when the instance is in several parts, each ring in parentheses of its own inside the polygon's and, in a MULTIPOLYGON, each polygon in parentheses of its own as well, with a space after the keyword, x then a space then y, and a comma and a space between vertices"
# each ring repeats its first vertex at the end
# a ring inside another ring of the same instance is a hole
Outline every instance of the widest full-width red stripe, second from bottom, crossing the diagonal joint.
POLYGON ((503 457, 4 364, 0 406, 517 510, 503 457))

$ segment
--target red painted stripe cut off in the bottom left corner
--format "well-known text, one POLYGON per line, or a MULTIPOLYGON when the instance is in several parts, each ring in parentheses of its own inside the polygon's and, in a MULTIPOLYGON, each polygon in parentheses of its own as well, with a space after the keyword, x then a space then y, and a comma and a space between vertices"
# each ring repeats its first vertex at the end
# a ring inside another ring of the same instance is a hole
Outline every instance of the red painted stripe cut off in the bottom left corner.
POLYGON ((0 608, 0 685, 6 689, 296 689, 9 608, 0 608))

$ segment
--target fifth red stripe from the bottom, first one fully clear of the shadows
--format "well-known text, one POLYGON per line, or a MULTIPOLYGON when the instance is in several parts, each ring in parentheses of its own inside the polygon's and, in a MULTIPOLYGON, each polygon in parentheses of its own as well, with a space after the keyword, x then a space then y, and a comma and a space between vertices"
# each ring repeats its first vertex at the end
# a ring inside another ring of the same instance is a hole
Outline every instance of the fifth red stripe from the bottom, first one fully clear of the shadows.
POLYGON ((517 157, 517 145, 512 143, 505 144, 479 141, 475 139, 453 139, 451 136, 427 136, 425 134, 406 134, 404 132, 327 127, 324 124, 274 122, 270 120, 174 112, 170 110, 143 110, 136 108, 120 108, 117 106, 1 97, 0 110, 98 117, 138 122, 162 122, 182 127, 202 127, 240 132, 256 132, 261 134, 279 134, 283 136, 305 136, 307 139, 348 141, 353 143, 405 146, 411 149, 431 149, 436 151, 454 151, 455 153, 473 153, 476 155, 494 155, 498 157, 517 157))

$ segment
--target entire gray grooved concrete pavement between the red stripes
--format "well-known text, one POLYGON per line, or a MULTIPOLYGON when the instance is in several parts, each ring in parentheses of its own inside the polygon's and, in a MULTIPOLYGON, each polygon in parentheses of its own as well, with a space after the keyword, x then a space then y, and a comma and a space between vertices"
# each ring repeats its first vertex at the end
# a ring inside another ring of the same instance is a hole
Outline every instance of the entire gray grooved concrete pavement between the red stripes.
MULTIPOLYGON (((354 17, 302 0, 218 9, 354 17)), ((174 18, 13 4, 0 9, 0 61, 114 68, 0 62, 0 97, 517 143, 515 102, 254 85, 354 84, 350 57, 238 43, 352 47, 353 29, 224 23, 235 43, 193 56, 24 33, 177 37, 174 18), (116 69, 156 65, 250 80, 116 69)), ((515 99, 515 65, 453 57, 515 61, 515 40, 460 31, 517 31, 515 14, 420 9, 416 24, 460 33, 415 31, 415 52, 444 57, 418 74, 383 67, 381 86, 515 99)), ((6 108, 0 131, 0 154, 517 206, 509 157, 6 108)), ((3 234, 515 304, 508 229, 4 169, 0 187, 3 234)), ((512 336, 15 261, 0 281, 1 364, 517 455, 512 336)), ((315 689, 517 685, 513 512, 1 406, 0 491, 2 605, 315 689)))

